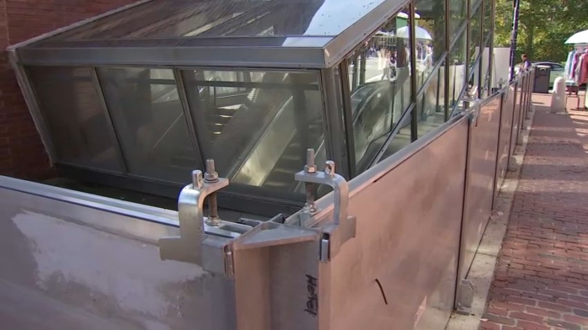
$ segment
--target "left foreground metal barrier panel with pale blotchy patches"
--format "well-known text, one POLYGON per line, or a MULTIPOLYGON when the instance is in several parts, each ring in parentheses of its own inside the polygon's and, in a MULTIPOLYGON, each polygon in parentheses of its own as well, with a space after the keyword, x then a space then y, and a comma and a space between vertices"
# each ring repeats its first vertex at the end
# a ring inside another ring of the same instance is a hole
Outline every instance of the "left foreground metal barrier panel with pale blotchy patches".
POLYGON ((2 179, 1 329, 235 329, 232 280, 160 260, 156 242, 175 226, 14 191, 2 179))

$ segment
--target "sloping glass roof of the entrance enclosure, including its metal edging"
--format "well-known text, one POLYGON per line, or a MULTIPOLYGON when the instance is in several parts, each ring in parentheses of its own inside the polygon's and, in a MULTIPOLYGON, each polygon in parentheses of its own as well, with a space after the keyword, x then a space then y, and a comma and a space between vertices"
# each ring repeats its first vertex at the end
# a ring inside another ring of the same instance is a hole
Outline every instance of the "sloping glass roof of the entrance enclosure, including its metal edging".
POLYGON ((28 64, 329 68, 401 0, 151 0, 28 43, 28 64))

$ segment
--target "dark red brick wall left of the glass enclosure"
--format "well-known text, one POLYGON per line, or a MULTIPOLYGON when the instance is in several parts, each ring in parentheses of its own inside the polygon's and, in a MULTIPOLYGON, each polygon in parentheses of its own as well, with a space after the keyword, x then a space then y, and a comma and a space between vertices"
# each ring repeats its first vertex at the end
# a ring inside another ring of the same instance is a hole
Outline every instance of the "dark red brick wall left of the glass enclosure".
MULTIPOLYGON (((0 0, 0 50, 134 1, 0 0)), ((53 175, 5 51, 0 52, 0 175, 53 175)))

